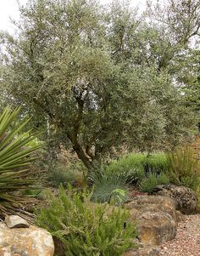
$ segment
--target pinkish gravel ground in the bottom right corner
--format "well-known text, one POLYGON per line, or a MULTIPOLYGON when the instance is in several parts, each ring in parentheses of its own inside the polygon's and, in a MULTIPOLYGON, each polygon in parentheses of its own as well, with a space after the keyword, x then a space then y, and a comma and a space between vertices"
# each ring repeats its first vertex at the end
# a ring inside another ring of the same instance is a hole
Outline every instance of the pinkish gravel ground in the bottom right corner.
POLYGON ((160 246, 160 256, 200 256, 200 214, 186 216, 175 239, 160 246))

